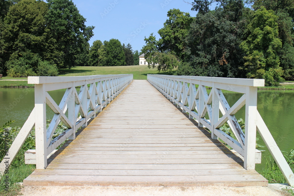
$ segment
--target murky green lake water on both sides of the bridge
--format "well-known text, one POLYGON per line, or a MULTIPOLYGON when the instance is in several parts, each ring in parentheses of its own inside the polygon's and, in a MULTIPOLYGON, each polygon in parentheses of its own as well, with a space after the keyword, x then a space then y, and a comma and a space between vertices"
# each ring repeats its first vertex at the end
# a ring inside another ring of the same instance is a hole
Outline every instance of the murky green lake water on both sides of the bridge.
MULTIPOLYGON (((65 90, 49 92, 51 97, 59 103, 65 90)), ((240 94, 224 93, 230 106, 235 103, 240 94)), ((294 148, 294 91, 260 90, 258 91, 257 109, 277 142, 280 150, 289 151, 294 148)), ((15 120, 12 126, 22 126, 34 108, 34 88, 0 88, 0 126, 8 120, 15 120)), ((53 117, 53 112, 47 107, 47 119, 53 117)), ((236 113, 236 118, 244 118, 245 109, 236 113)), ((257 134, 257 136, 259 136, 257 134)), ((260 138, 260 137, 259 137, 260 138)), ((264 145, 262 139, 258 141, 264 145)), ((266 148, 262 156, 270 155, 266 148)), ((265 166, 257 164, 257 170, 265 166)))

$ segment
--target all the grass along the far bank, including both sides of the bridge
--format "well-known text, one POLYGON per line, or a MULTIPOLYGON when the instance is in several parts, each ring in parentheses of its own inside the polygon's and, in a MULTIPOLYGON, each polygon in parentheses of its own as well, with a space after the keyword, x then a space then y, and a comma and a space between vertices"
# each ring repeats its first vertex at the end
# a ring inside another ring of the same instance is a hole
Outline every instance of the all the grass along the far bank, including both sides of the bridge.
MULTIPOLYGON (((176 70, 159 72, 156 68, 149 69, 147 65, 112 67, 76 66, 71 69, 59 69, 58 76, 90 76, 132 73, 134 76, 134 80, 147 80, 147 74, 173 75, 175 71, 176 70)), ((27 80, 27 78, 3 77, 2 80, 0 80, 0 87, 34 88, 34 84, 28 84, 27 81, 23 80, 27 80)), ((284 83, 280 83, 279 86, 258 87, 258 90, 294 90, 294 81, 285 81, 284 83)))

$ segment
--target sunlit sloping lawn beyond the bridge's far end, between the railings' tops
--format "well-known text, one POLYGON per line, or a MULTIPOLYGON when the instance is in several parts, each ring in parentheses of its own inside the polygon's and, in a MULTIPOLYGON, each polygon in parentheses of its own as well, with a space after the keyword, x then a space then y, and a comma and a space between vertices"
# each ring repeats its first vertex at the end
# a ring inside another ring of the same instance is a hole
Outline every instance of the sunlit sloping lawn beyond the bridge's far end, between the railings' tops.
POLYGON ((59 69, 59 76, 89 76, 132 73, 134 76, 134 80, 147 80, 147 74, 172 75, 173 72, 159 72, 156 68, 149 69, 147 65, 112 67, 73 67, 71 69, 59 69))

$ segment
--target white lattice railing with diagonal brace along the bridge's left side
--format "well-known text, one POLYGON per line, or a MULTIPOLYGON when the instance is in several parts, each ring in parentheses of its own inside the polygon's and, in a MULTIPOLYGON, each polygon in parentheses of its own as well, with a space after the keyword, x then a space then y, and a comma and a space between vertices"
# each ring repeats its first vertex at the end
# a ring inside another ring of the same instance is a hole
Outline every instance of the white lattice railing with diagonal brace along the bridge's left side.
POLYGON ((35 84, 35 108, 1 162, 0 174, 8 169, 34 127, 36 168, 46 168, 47 155, 67 138, 75 139, 76 130, 87 126, 88 120, 95 118, 96 113, 102 111, 103 107, 106 107, 131 81, 133 81, 133 74, 28 77, 28 83, 35 84), (77 88, 79 88, 78 91, 77 88), (59 89, 66 89, 66 92, 58 105, 48 91, 59 89), (54 112, 48 128, 46 128, 46 105, 54 112), (60 121, 68 129, 52 139, 60 121))

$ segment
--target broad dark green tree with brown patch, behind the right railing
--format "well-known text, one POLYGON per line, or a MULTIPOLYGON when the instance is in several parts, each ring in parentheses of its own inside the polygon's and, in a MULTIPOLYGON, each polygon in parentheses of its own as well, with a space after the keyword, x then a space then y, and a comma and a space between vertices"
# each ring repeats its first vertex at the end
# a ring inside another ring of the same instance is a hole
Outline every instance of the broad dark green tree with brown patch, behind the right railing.
POLYGON ((210 77, 244 77, 240 71, 246 28, 244 4, 232 0, 194 18, 186 38, 186 59, 178 67, 178 75, 210 77))

